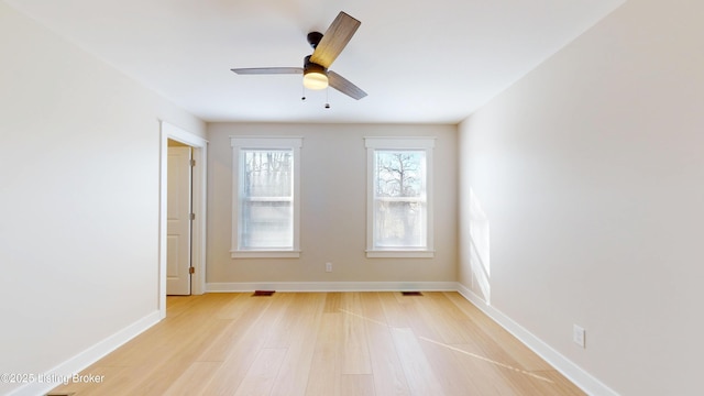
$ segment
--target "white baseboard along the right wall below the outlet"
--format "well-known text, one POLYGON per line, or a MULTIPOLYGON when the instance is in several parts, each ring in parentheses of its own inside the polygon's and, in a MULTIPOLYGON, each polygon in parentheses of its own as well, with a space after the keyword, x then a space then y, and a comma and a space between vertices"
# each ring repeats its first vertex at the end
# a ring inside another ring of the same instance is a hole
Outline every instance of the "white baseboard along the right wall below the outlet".
POLYGON ((590 373, 585 372, 582 367, 574 364, 571 360, 564 358, 552 346, 544 343, 542 340, 531 334, 520 324, 516 323, 513 319, 504 315, 498 309, 487 305, 480 296, 474 294, 464 285, 458 284, 458 293, 462 297, 466 298, 470 302, 481 309, 501 327, 506 329, 509 333, 516 337, 526 346, 532 350, 536 354, 542 358, 573 384, 579 386, 588 395, 600 396, 618 396, 614 389, 606 386, 604 383, 595 378, 590 373))

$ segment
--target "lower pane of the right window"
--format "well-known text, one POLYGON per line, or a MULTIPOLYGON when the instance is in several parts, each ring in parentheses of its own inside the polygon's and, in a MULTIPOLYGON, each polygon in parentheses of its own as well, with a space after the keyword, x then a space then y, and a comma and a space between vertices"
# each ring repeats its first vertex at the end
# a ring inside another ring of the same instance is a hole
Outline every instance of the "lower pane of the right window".
POLYGON ((375 205, 376 248, 425 248, 424 202, 377 200, 375 205))

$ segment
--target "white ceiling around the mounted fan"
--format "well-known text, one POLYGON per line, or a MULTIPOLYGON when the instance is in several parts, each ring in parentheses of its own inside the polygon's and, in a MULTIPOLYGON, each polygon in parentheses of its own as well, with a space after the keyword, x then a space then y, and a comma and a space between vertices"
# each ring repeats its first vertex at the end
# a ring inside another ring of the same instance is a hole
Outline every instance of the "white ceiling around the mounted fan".
POLYGON ((624 0, 6 0, 206 121, 457 123, 624 0), (334 70, 369 96, 308 91, 310 31, 362 21, 334 70))

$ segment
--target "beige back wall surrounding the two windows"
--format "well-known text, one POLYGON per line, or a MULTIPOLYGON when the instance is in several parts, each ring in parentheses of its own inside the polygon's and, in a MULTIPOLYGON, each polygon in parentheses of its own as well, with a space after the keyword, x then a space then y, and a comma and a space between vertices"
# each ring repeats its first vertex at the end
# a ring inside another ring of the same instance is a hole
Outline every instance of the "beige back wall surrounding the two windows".
POLYGON ((457 280, 457 127, 210 123, 208 140, 209 284, 457 280), (231 135, 304 138, 300 258, 230 258, 231 135), (366 258, 363 138, 385 135, 437 138, 435 258, 366 258))

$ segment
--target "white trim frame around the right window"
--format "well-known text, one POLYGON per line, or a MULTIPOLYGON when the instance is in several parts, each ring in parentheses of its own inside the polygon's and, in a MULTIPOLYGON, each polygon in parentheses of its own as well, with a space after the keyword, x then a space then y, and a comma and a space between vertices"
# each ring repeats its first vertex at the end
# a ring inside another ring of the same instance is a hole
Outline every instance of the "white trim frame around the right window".
POLYGON ((435 138, 373 136, 364 138, 366 147, 366 256, 372 258, 431 258, 433 244, 433 158, 435 138), (425 249, 375 249, 374 248, 374 151, 375 150, 422 150, 426 152, 427 190, 427 241, 425 249))

